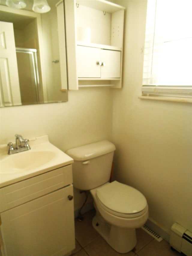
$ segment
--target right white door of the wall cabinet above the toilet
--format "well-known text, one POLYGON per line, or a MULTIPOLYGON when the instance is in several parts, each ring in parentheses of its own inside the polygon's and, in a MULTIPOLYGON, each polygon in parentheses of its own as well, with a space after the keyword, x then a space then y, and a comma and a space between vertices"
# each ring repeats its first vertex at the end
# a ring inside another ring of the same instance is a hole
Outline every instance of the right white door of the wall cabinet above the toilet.
POLYGON ((121 52, 101 49, 101 78, 121 77, 121 52))

